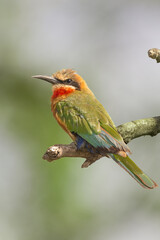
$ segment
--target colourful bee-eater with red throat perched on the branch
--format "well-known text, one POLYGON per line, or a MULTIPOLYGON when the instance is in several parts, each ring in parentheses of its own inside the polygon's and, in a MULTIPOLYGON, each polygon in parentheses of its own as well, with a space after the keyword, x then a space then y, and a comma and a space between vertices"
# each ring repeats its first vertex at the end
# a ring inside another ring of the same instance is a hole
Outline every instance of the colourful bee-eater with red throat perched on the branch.
POLYGON ((78 149, 85 146, 93 154, 111 157, 144 188, 158 186, 129 158, 130 149, 81 76, 72 69, 62 69, 51 77, 33 77, 52 84, 51 110, 78 149))

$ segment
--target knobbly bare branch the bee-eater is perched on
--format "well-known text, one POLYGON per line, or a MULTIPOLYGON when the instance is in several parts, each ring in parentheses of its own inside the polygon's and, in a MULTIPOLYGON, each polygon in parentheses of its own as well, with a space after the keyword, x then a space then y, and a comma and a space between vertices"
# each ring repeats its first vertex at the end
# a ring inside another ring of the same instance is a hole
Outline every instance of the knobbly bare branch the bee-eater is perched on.
MULTIPOLYGON (((125 143, 129 143, 131 140, 141 136, 150 135, 153 137, 160 133, 160 116, 128 122, 118 126, 117 130, 125 143)), ((84 168, 102 158, 103 155, 91 153, 86 148, 77 149, 74 142, 69 145, 58 144, 51 146, 43 155, 43 159, 48 162, 58 160, 62 157, 86 158, 86 161, 82 164, 84 168)))

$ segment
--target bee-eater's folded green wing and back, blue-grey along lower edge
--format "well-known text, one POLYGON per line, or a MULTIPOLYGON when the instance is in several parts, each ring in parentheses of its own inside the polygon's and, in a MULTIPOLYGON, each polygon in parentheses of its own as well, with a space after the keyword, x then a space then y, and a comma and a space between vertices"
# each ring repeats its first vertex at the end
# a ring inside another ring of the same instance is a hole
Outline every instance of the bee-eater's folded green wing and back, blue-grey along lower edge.
POLYGON ((95 148, 104 152, 129 152, 108 113, 95 97, 88 94, 71 96, 57 103, 56 112, 70 132, 95 148))

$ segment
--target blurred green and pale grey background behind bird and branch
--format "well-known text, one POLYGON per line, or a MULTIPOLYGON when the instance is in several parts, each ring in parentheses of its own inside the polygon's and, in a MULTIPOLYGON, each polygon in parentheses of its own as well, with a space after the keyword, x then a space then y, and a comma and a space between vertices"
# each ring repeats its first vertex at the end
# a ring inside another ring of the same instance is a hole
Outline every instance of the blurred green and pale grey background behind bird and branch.
MULTIPOLYGON (((160 239, 160 190, 141 188, 112 160, 42 160, 70 138, 52 117, 51 86, 35 74, 73 68, 116 125, 159 115, 156 0, 0 0, 0 238, 160 239)), ((160 135, 129 144, 160 184, 160 135)))

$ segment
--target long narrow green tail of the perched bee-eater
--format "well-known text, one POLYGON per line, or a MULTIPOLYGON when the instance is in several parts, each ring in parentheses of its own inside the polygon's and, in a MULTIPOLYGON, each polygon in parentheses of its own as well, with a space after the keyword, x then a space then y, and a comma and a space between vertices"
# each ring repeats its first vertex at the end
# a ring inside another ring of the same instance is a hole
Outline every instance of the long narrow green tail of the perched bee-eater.
POLYGON ((116 154, 110 154, 111 158, 124 168, 142 187, 152 189, 157 187, 151 178, 149 178, 128 156, 122 157, 116 154))

